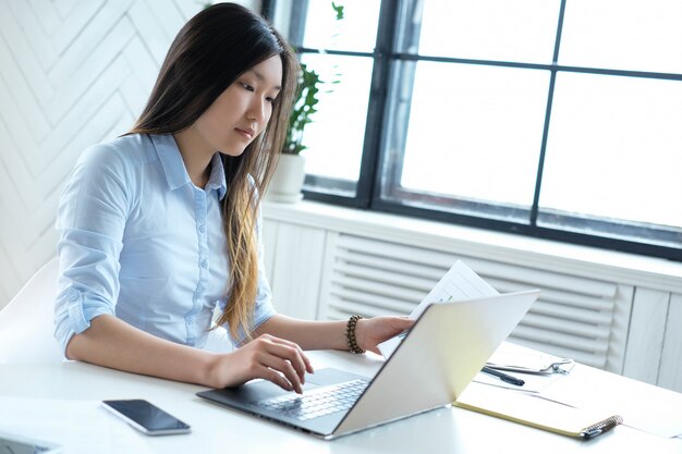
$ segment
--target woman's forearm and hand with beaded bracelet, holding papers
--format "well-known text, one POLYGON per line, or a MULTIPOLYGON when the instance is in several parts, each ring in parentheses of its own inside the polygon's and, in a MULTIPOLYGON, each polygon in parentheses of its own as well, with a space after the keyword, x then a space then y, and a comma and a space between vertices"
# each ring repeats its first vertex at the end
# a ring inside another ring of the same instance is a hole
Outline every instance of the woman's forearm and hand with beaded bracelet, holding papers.
MULTIPOLYGON (((295 342, 303 349, 349 349, 345 334, 346 321, 299 320, 282 315, 270 317, 256 335, 271 334, 295 342)), ((383 341, 410 329, 414 320, 404 317, 374 317, 362 319, 355 328, 355 339, 362 349, 379 354, 383 341)))

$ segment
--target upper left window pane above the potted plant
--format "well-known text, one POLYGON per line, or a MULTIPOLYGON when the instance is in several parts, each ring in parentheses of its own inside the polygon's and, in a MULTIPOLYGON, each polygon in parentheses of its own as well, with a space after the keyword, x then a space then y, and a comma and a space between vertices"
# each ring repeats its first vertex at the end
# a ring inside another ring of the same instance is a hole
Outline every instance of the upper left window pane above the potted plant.
POLYGON ((379 0, 343 0, 343 19, 331 1, 308 1, 303 46, 314 49, 372 52, 377 40, 379 0))

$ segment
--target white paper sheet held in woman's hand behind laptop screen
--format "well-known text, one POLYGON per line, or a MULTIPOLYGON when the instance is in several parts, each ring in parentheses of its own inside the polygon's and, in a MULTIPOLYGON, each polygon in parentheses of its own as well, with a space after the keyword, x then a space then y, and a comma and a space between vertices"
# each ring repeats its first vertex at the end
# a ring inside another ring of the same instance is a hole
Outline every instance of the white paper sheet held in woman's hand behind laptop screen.
MULTIPOLYGON (((498 294, 499 293, 492 289, 490 284, 480 279, 480 277, 464 265, 462 260, 458 260, 428 295, 426 295, 422 303, 410 314, 410 318, 417 319, 431 304, 463 302, 498 294)), ((405 334, 406 333, 402 333, 379 344, 379 351, 385 358, 388 359, 388 357, 393 354, 405 334)))

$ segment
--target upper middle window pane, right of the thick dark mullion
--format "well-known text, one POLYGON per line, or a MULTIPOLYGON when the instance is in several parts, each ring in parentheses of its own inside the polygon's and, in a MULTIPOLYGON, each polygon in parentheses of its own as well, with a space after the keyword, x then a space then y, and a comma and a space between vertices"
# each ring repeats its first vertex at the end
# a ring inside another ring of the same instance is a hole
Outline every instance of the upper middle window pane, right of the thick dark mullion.
POLYGON ((549 64, 559 4, 559 0, 425 1, 418 51, 424 56, 549 64))

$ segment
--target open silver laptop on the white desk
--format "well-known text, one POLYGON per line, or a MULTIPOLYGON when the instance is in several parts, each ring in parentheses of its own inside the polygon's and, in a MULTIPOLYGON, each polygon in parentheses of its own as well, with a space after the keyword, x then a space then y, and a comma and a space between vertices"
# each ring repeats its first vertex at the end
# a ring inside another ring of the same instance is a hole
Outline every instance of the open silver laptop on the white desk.
POLYGON ((306 376, 303 395, 266 380, 196 394, 326 440, 357 432, 454 402, 538 295, 428 306, 374 378, 327 368, 306 376))

